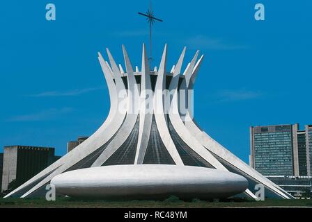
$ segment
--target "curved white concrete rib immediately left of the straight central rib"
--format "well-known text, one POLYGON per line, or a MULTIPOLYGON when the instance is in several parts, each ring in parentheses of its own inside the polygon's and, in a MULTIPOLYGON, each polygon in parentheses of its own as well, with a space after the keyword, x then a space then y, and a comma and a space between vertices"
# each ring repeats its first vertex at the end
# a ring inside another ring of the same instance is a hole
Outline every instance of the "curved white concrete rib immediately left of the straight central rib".
MULTIPOLYGON (((123 122, 123 126, 120 127, 117 135, 111 140, 107 148, 101 153, 95 162, 93 162, 91 167, 100 167, 104 162, 106 162, 111 155, 113 155, 120 146, 127 140, 130 136, 135 123, 137 123, 137 117, 139 114, 139 89, 137 87, 136 80, 134 78, 134 71, 130 63, 129 56, 123 46, 123 56, 125 58, 125 65, 127 69, 127 85, 128 85, 128 99, 127 99, 127 116, 123 122)), ((112 66, 113 71, 114 66, 112 66)), ((116 66, 115 69, 118 69, 116 66)), ((118 69, 119 70, 119 69, 118 69)))

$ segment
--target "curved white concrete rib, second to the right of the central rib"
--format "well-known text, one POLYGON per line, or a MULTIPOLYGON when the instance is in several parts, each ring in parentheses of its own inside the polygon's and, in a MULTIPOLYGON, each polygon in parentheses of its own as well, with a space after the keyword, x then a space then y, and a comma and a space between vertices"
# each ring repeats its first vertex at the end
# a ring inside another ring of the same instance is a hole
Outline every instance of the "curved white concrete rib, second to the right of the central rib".
MULTIPOLYGON (((205 161, 210 163, 214 168, 220 169, 223 171, 228 171, 226 167, 224 167, 209 151, 205 149, 192 135, 189 134, 187 128, 183 124, 182 119, 180 118, 180 114, 178 111, 178 83, 180 79, 180 71, 182 67, 183 58, 185 56, 185 50, 183 49, 182 54, 178 60, 178 63, 176 65, 176 68, 174 69, 173 78, 170 83, 169 92, 173 94, 172 100, 171 100, 171 108, 169 112, 169 119, 172 123, 173 128, 176 130, 180 138, 189 146, 189 148, 192 148, 192 150, 197 153, 198 155, 201 155, 205 161)), ((192 60, 192 64, 189 65, 189 67, 194 67, 194 63, 196 61, 197 55, 195 55, 195 58, 192 60)))

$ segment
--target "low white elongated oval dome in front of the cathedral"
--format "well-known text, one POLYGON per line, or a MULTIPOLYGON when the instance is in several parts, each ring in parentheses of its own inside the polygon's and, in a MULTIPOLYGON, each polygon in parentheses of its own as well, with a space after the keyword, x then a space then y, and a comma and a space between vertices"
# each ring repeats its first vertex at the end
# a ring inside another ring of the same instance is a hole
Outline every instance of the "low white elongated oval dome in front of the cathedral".
POLYGON ((226 198, 240 194, 247 180, 204 167, 141 164, 68 171, 51 180, 57 194, 77 198, 226 198))

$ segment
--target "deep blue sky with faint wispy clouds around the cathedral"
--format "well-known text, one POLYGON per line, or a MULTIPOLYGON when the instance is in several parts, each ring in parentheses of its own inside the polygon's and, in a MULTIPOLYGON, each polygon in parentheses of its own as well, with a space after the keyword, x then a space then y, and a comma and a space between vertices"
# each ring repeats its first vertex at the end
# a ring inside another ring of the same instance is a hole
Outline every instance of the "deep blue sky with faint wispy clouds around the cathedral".
MULTIPOLYGON (((97 52, 141 65, 148 1, 3 1, 0 7, 0 152, 5 145, 54 146, 91 135, 109 96, 97 52), (56 5, 47 22, 45 6, 56 5)), ((312 123, 312 1, 154 2, 155 65, 169 44, 168 69, 187 46, 205 54, 195 87, 201 128, 248 162, 249 126, 312 123), (265 21, 254 18, 265 5, 265 21)))

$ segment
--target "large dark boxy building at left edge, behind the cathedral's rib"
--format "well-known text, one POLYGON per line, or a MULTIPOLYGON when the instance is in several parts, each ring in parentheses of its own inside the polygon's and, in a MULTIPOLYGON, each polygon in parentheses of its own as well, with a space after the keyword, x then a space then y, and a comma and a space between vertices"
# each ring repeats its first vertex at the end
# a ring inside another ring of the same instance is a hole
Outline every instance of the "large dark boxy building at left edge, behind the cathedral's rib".
POLYGON ((4 146, 1 191, 22 185, 60 157, 54 148, 41 146, 4 146))

